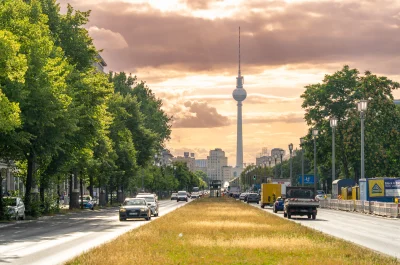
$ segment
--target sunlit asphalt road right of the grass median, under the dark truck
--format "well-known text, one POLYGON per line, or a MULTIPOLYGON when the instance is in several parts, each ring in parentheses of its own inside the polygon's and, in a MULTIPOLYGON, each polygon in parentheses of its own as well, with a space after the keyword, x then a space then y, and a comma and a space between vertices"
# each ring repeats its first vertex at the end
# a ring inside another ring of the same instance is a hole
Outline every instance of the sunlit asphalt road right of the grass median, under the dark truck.
MULTIPOLYGON (((252 205, 260 208, 258 204, 252 205)), ((272 212, 271 207, 265 208, 264 211, 275 214, 272 212)), ((278 212, 275 215, 284 218, 283 212, 278 212)), ((399 219, 318 208, 316 220, 308 219, 307 216, 295 216, 290 220, 372 250, 400 258, 399 219)))

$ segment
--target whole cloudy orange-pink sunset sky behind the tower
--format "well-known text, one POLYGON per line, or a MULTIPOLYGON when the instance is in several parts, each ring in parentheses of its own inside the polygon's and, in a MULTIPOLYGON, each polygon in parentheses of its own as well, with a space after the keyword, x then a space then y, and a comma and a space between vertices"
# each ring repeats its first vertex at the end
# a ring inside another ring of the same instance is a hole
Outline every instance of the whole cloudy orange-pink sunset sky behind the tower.
MULTIPOLYGON (((108 64, 146 81, 173 116, 167 148, 236 163, 241 70, 244 162, 307 133, 300 95, 347 64, 400 81, 399 0, 58 0, 91 10, 87 25, 108 64)), ((394 92, 400 98, 400 92, 394 92)))

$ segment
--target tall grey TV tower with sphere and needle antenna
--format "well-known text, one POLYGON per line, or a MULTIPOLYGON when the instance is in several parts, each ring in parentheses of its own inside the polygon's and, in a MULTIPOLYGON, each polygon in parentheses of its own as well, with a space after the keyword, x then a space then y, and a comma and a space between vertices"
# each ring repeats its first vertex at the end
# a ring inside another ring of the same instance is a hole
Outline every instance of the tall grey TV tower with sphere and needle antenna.
POLYGON ((237 142, 236 142, 236 167, 243 168, 243 134, 242 134, 242 101, 246 99, 247 92, 243 88, 243 76, 240 71, 240 27, 239 27, 239 70, 236 77, 236 89, 232 96, 238 102, 237 116, 237 142))

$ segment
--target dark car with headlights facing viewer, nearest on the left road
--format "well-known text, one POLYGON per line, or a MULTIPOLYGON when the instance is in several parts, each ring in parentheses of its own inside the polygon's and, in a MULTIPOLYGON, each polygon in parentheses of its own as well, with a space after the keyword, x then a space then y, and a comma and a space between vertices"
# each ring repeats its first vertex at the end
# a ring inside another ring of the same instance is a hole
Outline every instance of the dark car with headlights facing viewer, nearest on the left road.
POLYGON ((119 208, 119 220, 144 218, 151 220, 151 210, 144 198, 126 198, 119 208))

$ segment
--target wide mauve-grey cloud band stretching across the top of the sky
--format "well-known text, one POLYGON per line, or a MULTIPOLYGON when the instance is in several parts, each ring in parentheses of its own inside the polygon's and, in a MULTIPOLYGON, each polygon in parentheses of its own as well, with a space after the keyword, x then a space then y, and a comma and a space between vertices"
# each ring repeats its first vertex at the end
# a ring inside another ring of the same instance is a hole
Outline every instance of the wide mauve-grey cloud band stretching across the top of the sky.
MULTIPOLYGON (((143 3, 75 4, 84 10, 92 9, 91 26, 119 32, 129 43, 124 50, 106 49, 103 57, 111 69, 168 66, 184 71, 234 72, 239 25, 243 32, 244 74, 246 65, 268 67, 377 57, 382 61, 392 58, 400 46, 397 34, 400 6, 395 0, 384 4, 381 1, 244 3, 239 19, 232 15, 215 20, 195 17, 190 10, 161 12, 148 6, 144 12, 143 3)), ((386 69, 385 65, 381 67, 386 69)))

